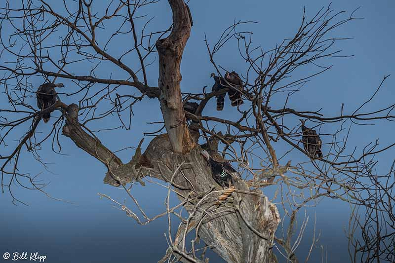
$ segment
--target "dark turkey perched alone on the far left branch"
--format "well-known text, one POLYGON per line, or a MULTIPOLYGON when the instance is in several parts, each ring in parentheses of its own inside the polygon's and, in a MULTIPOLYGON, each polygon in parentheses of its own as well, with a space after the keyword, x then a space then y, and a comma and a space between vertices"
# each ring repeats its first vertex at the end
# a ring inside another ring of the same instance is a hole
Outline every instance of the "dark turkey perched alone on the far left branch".
MULTIPOLYGON (((55 87, 64 87, 63 83, 54 84, 54 83, 44 83, 40 85, 39 89, 36 91, 37 97, 37 107, 39 107, 40 111, 43 111, 49 107, 51 107, 58 99, 57 93, 55 91, 55 87)), ((45 123, 48 122, 51 117, 51 113, 42 114, 42 119, 45 123)))

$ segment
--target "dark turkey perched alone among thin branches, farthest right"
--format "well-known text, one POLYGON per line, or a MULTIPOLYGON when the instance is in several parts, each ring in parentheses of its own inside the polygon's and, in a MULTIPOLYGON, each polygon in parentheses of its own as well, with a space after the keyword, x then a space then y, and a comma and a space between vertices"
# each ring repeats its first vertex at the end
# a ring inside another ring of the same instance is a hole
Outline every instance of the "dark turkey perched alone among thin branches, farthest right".
POLYGON ((300 119, 300 121, 302 122, 302 142, 305 151, 312 159, 322 158, 322 141, 319 139, 317 132, 307 128, 304 120, 300 119))

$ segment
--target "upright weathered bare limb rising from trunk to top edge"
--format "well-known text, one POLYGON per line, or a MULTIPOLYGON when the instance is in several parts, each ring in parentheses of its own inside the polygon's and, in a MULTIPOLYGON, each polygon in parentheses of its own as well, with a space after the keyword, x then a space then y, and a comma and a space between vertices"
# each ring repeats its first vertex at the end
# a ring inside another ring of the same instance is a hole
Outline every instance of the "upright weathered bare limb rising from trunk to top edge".
POLYGON ((167 38, 159 39, 160 109, 174 152, 187 152, 194 146, 189 134, 181 102, 180 64, 191 33, 190 13, 184 0, 168 0, 173 12, 173 30, 167 38))

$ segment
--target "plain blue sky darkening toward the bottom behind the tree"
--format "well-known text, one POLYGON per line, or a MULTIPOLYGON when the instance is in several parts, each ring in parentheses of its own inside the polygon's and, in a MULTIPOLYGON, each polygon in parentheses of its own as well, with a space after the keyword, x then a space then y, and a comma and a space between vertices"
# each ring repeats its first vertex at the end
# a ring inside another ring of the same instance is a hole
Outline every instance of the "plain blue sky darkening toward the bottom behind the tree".
MULTIPOLYGON (((61 1, 52 1, 60 2, 61 1)), ((103 1, 104 2, 104 1, 103 1)), ((323 113, 336 115, 340 113, 341 103, 346 103, 345 112, 353 112, 357 105, 363 102, 378 86, 383 75, 393 74, 394 37, 395 37, 395 2, 392 0, 368 1, 349 0, 332 1, 335 10, 346 10, 351 13, 356 7, 361 6, 356 15, 364 17, 363 20, 352 21, 341 27, 336 32, 340 37, 353 37, 338 45, 344 50, 345 55, 355 55, 347 59, 328 61, 334 67, 324 75, 316 77, 310 82, 305 91, 295 95, 290 106, 300 110, 316 110, 323 108, 323 113)), ((98 9, 102 2, 98 1, 98 9)), ((254 32, 253 42, 264 49, 275 46, 283 38, 292 37, 300 25, 303 6, 306 6, 308 17, 314 15, 322 6, 327 6, 329 1, 261 1, 261 0, 191 0, 189 6, 192 12, 194 26, 183 55, 181 73, 183 75, 182 90, 199 90, 202 86, 211 87, 212 79, 209 78, 213 67, 209 62, 205 47, 204 33, 210 43, 214 44, 219 34, 236 20, 253 20, 259 22, 249 26, 254 32)), ((0 4, 2 5, 2 3, 0 4)), ((53 5, 56 9, 56 4, 53 5)), ((59 6, 60 9, 63 7, 59 6)), ((149 16, 156 16, 155 25, 171 24, 171 11, 167 1, 160 1, 155 9, 150 9, 149 16)), ((111 27, 107 27, 111 31, 111 27)), ((7 29, 6 29, 7 30, 7 29)), ((4 36, 3 31, 3 36, 4 36)), ((11 32, 11 31, 10 31, 11 32)), ((117 43, 119 44, 119 43, 117 43)), ((113 50, 117 52, 115 43, 113 50)), ((244 72, 245 65, 237 57, 235 43, 226 45, 216 57, 217 62, 226 68, 237 72, 244 72)), ((109 49, 111 53, 111 48, 109 49)), ((1 63, 7 57, 1 58, 1 63)), ((130 62, 128 65, 133 65, 130 62)), ((154 64, 156 65, 156 64, 154 64)), ((110 72, 119 72, 115 67, 103 70, 103 78, 110 72)), ((78 67, 75 71, 78 73, 78 67)), ((81 74, 85 75, 85 74, 81 74)), ((149 84, 157 85, 157 69, 153 66, 150 70, 149 84)), ((60 81, 60 80, 58 80, 60 81)), ((72 88, 72 83, 62 80, 66 88, 72 88)), ((394 77, 390 77, 377 99, 371 107, 388 104, 394 100, 394 77)), ((37 85, 41 83, 38 81, 37 85)), ((133 89, 137 93, 137 90, 133 89)), ((138 93, 137 93, 138 94, 138 93)), ((228 100, 228 99, 227 99, 228 100)), ((72 103, 65 99, 66 103, 72 103)), ((6 103, 5 96, 0 96, 0 103, 6 103)), ((33 102, 34 104, 34 102, 33 102)), ((229 106, 229 103, 226 105, 229 106)), ((215 103, 211 102, 207 114, 215 112, 215 103)), ((228 107, 229 109, 230 107, 228 107)), ((365 111, 368 111, 366 107, 365 111)), ((123 147, 137 146, 145 131, 154 131, 156 127, 148 126, 147 121, 162 121, 159 103, 157 100, 145 99, 134 108, 135 116, 132 119, 131 131, 99 134, 99 138, 111 150, 123 147), (116 134, 116 136, 115 136, 116 134)), ((232 114, 232 111, 215 113, 232 114)), ((55 115, 59 113, 55 113, 55 115)), ((52 119, 53 122, 53 119, 52 119)), ((111 119, 107 119, 111 126, 111 119)), ((116 120, 114 125, 118 126, 116 120)), ((40 131, 48 131, 51 125, 40 123, 40 131)), ((378 124, 366 127, 363 132, 356 127, 352 134, 350 145, 358 145, 380 138, 381 146, 391 142, 393 127, 378 124)), ((15 139, 24 131, 20 131, 15 139)), ((167 248, 164 232, 167 231, 167 221, 159 219, 150 225, 141 226, 128 218, 125 213, 112 207, 107 200, 100 199, 97 193, 108 194, 114 199, 122 201, 126 198, 122 189, 103 184, 106 169, 104 165, 79 150, 68 138, 61 136, 62 153, 68 156, 54 154, 47 149, 41 150, 41 156, 49 165, 50 173, 44 170, 33 158, 23 152, 21 160, 25 171, 32 175, 42 173, 43 181, 50 181, 46 191, 54 197, 65 199, 73 204, 54 201, 37 191, 14 188, 14 193, 29 206, 14 206, 6 192, 0 195, 0 261, 4 252, 39 252, 46 255, 48 263, 85 263, 85 262, 118 262, 139 263, 157 262, 167 248)), ((143 149, 151 138, 145 140, 143 149)), ((11 142, 10 142, 11 143, 11 142)), ((0 148, 1 154, 9 153, 10 149, 0 148)), ((130 159, 132 151, 122 152, 122 160, 130 159)), ((389 169, 389 163, 394 156, 394 151, 388 156, 382 156, 379 167, 382 171, 389 169)), ((298 154, 297 152, 293 153, 298 154)), ((299 153, 300 154, 300 153, 299 153)), ((303 158, 303 156, 290 156, 303 158)), ((284 160, 284 163, 286 160, 284 160)), ((153 216, 164 211, 163 188, 148 184, 146 187, 136 185, 133 189, 140 204, 148 215, 153 216)), ((270 190, 265 189, 269 195, 270 190)), ((269 196, 270 197, 270 196, 269 196)), ((127 201, 126 204, 131 204, 127 201)), ((131 206, 133 207, 133 206, 131 206)), ((336 200, 325 200, 316 208, 310 209, 311 223, 316 215, 316 229, 321 238, 318 245, 322 245, 328 262, 348 262, 347 240, 344 226, 348 224, 349 207, 336 200), (314 213, 316 212, 316 213, 314 213)), ((300 213, 304 216, 304 212, 300 213)), ((307 234, 297 250, 299 260, 304 261, 307 249, 311 244, 312 224, 307 229, 307 234)), ((320 261, 321 248, 317 248, 311 262, 320 261)), ((210 254, 211 255, 211 254, 210 254)), ((280 258, 279 262, 282 262, 280 258)), ((10 260, 8 260, 10 261, 10 260)), ((223 262, 212 253, 210 263, 223 262)))

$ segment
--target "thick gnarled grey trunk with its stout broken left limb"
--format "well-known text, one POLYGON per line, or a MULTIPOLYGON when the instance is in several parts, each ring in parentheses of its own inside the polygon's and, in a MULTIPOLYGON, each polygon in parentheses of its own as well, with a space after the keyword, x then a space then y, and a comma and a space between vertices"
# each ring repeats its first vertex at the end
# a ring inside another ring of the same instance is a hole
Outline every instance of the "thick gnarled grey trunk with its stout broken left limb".
MULTIPOLYGON (((276 207, 260 190, 250 192, 245 182, 239 181, 233 193, 235 201, 219 205, 217 200, 221 193, 214 191, 214 187, 220 188, 200 148, 188 153, 174 152, 168 135, 162 134, 151 141, 143 154, 137 150, 129 163, 122 164, 98 139, 82 130, 77 116, 78 106, 68 106, 63 134, 106 164, 109 169, 106 183, 119 186, 147 175, 170 182, 178 170, 171 183, 180 198, 197 197, 184 207, 194 215, 196 222, 201 222, 198 235, 205 244, 229 263, 272 262, 270 248, 280 221, 276 207), (182 163, 184 165, 178 169, 182 163), (200 209, 196 210, 198 202, 200 209)), ((178 243, 181 241, 178 239, 178 243)))

